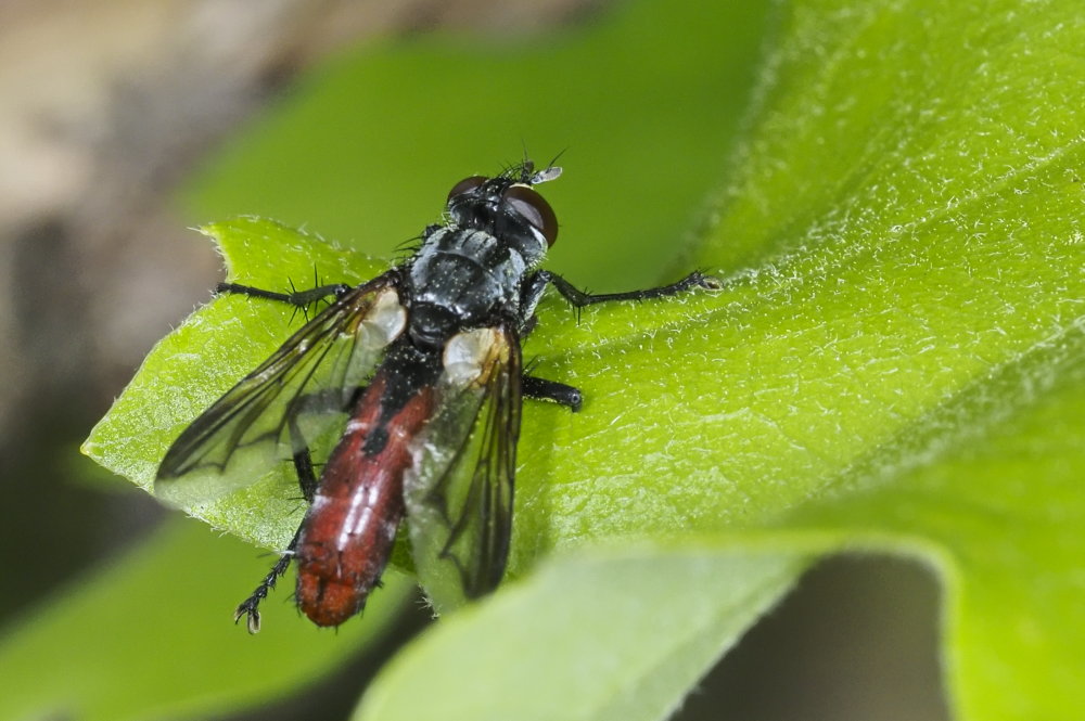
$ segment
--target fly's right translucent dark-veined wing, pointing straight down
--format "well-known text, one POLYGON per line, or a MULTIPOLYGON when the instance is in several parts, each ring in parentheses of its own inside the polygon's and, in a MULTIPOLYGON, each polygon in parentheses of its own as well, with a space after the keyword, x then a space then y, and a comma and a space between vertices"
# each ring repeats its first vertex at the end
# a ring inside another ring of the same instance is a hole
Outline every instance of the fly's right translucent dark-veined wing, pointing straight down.
POLYGON ((419 579, 438 610, 492 591, 505 574, 520 436, 520 342, 508 327, 454 337, 434 416, 405 486, 419 579))

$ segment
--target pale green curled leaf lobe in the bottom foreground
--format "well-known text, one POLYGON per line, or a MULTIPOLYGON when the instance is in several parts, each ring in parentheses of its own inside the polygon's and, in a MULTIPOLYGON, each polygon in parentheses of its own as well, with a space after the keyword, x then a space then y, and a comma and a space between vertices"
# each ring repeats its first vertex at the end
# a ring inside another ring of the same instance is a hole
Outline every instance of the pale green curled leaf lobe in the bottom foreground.
POLYGON ((431 627, 355 718, 667 718, 680 700, 674 690, 694 684, 719 639, 737 640, 800 567, 788 554, 713 543, 548 564, 431 627))

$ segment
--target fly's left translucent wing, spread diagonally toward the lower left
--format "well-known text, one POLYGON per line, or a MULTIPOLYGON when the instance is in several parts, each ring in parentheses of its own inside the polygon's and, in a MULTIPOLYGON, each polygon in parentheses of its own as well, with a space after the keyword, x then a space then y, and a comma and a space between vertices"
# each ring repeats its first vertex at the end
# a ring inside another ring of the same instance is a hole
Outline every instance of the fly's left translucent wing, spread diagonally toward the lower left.
POLYGON ((337 298, 189 425, 155 493, 189 505, 263 477, 342 421, 406 311, 385 273, 337 298))

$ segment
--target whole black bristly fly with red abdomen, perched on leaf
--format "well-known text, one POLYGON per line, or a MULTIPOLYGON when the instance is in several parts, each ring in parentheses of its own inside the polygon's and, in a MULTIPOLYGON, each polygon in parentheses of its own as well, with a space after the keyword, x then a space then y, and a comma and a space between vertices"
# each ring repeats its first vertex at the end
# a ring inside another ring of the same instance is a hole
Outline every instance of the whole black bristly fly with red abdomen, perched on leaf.
POLYGON ((578 389, 523 371, 520 344, 547 285, 578 308, 718 287, 694 272, 662 287, 589 295, 538 270, 558 221, 534 186, 560 173, 525 162, 460 181, 445 224, 427 227, 410 259, 358 286, 219 286, 301 308, 328 300, 186 428, 155 480, 157 493, 183 501, 244 484, 239 468, 293 460, 309 506, 238 607, 251 632, 291 559, 297 604, 315 623, 339 626, 360 611, 405 516, 420 570, 450 564, 463 596, 492 591, 509 553, 521 397, 580 407, 578 389), (310 448, 328 433, 339 440, 318 477, 310 448))

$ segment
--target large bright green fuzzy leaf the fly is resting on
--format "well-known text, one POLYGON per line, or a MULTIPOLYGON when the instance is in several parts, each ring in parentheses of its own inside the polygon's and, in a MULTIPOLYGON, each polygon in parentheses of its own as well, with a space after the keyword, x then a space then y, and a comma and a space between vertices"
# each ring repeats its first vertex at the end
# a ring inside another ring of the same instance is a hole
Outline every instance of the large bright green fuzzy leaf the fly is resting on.
MULTIPOLYGON (((525 411, 510 570, 564 557, 445 618, 360 718, 665 718, 809 559, 843 549, 941 574, 958 718, 1085 716, 1085 21, 994 0, 779 12, 691 262, 726 289, 579 324, 544 304, 525 357, 588 402, 525 411), (636 542, 584 550, 616 539, 636 542)), ((266 221, 213 232, 240 282, 381 268, 266 221), (296 253, 269 265, 268 242, 296 253)), ((88 448, 146 485, 289 316, 201 310, 88 448)), ((268 478, 190 511, 276 546, 298 513, 288 491, 268 478)))

